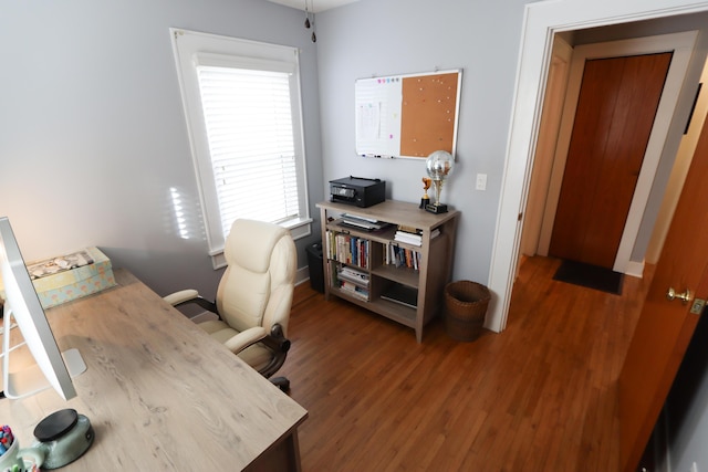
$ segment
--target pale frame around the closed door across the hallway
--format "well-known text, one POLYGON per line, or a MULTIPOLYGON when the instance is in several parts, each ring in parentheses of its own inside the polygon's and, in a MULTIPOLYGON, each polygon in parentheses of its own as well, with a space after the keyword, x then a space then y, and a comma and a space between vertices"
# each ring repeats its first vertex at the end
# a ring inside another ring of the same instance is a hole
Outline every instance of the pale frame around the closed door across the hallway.
POLYGON ((553 170, 549 186, 545 211, 543 214, 543 225, 539 241, 539 253, 548 255, 551 243, 553 223, 555 222, 555 210, 561 195, 561 183, 568 160, 575 111, 577 109, 577 98, 580 96, 581 84, 585 61, 593 59, 617 57, 625 55, 641 55, 660 52, 674 52, 669 64, 668 73, 659 105, 656 111, 656 119, 652 126, 652 133, 647 143, 646 153, 642 162, 642 169, 634 196, 627 213, 627 219, 620 241, 620 248, 615 256, 613 270, 623 274, 642 276, 644 264, 631 263, 632 250, 639 233, 639 225, 644 216, 649 192, 654 183, 654 177, 662 158, 664 143, 674 118, 676 104, 681 92, 684 77, 688 70, 691 53, 698 38, 698 31, 681 33, 659 34, 645 38, 636 38, 621 41, 610 41, 594 44, 583 44, 575 48, 571 60, 571 69, 568 83, 566 99, 559 129, 558 146, 553 160, 553 170))

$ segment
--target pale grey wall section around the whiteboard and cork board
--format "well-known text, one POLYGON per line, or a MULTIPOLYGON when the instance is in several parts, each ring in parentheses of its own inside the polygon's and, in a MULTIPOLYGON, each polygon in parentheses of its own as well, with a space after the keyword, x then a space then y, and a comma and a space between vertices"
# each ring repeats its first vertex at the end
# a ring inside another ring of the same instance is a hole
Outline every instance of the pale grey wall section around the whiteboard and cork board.
POLYGON ((441 200, 461 211, 455 279, 487 283, 527 0, 360 0, 317 15, 325 179, 386 180, 419 202, 424 160, 356 156, 354 81, 462 69, 457 162, 441 200), (487 190, 475 190, 477 174, 487 190))

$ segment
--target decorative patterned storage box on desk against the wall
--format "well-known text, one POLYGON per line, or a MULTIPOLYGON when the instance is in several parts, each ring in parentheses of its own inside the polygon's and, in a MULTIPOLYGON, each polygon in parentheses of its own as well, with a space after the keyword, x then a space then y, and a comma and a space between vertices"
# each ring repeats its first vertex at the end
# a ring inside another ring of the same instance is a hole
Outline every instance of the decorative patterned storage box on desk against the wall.
POLYGON ((28 264, 44 308, 115 286, 111 260, 97 248, 28 264))

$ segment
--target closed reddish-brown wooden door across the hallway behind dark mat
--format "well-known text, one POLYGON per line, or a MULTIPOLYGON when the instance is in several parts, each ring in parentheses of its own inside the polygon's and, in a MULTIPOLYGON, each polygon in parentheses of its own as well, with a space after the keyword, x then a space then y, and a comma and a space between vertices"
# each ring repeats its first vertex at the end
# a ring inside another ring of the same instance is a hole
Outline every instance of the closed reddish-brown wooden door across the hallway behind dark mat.
POLYGON ((550 255, 613 268, 670 61, 585 62, 550 255))

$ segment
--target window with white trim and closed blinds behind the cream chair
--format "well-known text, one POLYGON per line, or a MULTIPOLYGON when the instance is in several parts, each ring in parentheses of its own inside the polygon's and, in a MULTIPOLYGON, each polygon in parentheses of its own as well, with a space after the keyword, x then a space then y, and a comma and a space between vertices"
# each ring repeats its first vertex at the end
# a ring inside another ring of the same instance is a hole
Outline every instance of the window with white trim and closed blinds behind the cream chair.
POLYGON ((215 268, 237 218, 310 234, 298 50, 170 33, 215 268))

